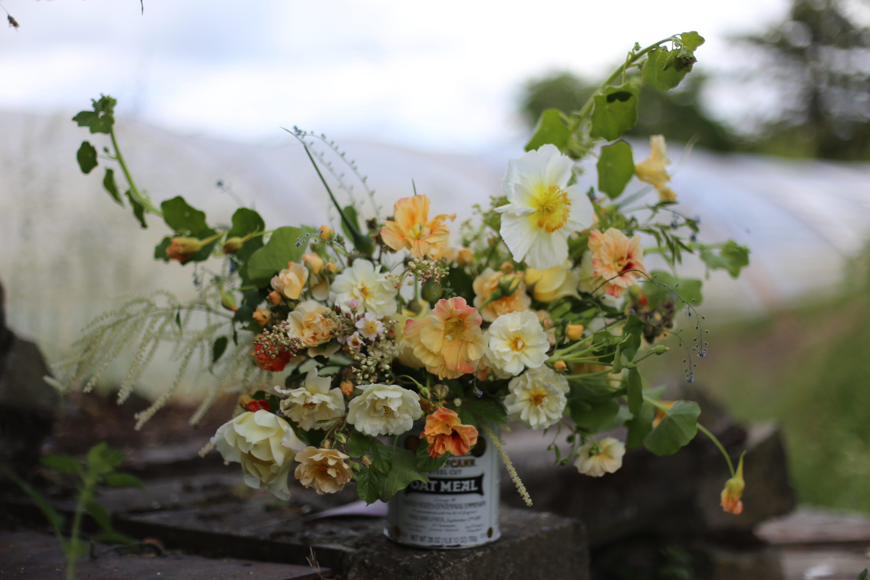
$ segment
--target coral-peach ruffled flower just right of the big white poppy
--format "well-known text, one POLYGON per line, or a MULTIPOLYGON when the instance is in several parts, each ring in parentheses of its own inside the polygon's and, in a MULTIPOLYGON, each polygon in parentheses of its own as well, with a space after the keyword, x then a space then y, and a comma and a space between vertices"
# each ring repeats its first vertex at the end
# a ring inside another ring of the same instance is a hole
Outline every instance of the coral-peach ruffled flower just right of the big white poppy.
POLYGON ((604 290, 612 297, 622 296, 629 286, 646 274, 639 234, 629 239, 616 228, 607 228, 603 234, 600 230, 592 230, 589 250, 592 251, 595 277, 603 278, 604 290))

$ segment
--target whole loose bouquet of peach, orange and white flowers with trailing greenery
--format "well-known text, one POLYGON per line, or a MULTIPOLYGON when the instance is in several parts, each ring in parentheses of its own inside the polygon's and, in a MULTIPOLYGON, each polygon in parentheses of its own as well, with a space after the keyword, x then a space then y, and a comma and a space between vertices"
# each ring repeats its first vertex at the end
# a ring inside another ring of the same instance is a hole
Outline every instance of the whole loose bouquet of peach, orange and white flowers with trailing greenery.
MULTIPOLYGON (((699 242, 699 218, 677 209, 668 185, 664 137, 652 138, 651 156, 639 163, 620 139, 636 123, 639 84, 676 87, 703 42, 686 32, 644 49, 636 44, 581 110, 545 110, 525 153, 507 162, 502 195, 459 224, 455 214, 433 216, 416 188, 381 217, 356 164, 324 136, 298 129, 289 132, 310 157, 338 227, 267 230, 245 207, 219 225, 183 197, 157 207, 118 149, 115 100, 95 100, 74 120, 108 135, 111 149, 98 156, 85 141, 81 169, 89 173, 98 157, 120 167, 124 195, 112 168, 105 190, 121 205, 126 197, 142 227, 149 214, 163 219, 171 234, 155 257, 195 269, 200 293, 191 303, 165 294, 136 298, 97 319, 58 365, 54 383, 68 389, 88 378, 90 389, 120 345, 137 343, 123 401, 157 346, 174 343, 179 377, 139 415, 141 426, 198 354, 217 379, 191 421, 221 392, 238 391, 238 414, 211 443, 241 464, 251 487, 281 498, 292 473, 318 493, 352 481, 366 502, 388 500, 426 482, 448 457, 468 453, 482 430, 531 504, 495 433, 508 422, 567 430, 567 443, 554 438, 548 449, 557 463, 591 477, 619 470, 626 448, 668 455, 698 430, 715 441, 697 423, 699 406, 660 400, 640 363, 668 350, 657 341, 674 335, 693 380, 693 357, 707 350, 696 310, 702 283, 679 277, 679 264, 695 254, 737 277, 748 250, 730 240, 699 242), (586 157, 597 158, 594 173, 579 163, 586 157), (632 177, 648 185, 626 192, 632 177), (371 201, 369 219, 361 219, 349 178, 371 201), (350 203, 338 203, 333 188, 350 203), (648 266, 651 254, 666 270, 648 266), (674 329, 679 312, 693 321, 691 336, 674 329), (381 441, 417 421, 425 426, 416 452, 381 441), (622 426, 626 441, 596 437, 622 426)), ((742 461, 732 475, 721 504, 740 513, 742 461)))

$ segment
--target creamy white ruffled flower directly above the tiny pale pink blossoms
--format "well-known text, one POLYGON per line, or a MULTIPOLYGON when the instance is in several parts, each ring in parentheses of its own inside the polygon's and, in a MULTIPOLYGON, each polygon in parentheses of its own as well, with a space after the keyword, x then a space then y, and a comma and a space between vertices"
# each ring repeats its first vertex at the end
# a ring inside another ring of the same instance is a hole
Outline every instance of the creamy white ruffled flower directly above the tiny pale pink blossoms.
POLYGON ((334 303, 346 304, 358 300, 357 310, 371 312, 378 318, 396 313, 396 294, 398 290, 395 284, 385 274, 375 270, 374 264, 363 259, 357 260, 335 277, 330 291, 334 303))

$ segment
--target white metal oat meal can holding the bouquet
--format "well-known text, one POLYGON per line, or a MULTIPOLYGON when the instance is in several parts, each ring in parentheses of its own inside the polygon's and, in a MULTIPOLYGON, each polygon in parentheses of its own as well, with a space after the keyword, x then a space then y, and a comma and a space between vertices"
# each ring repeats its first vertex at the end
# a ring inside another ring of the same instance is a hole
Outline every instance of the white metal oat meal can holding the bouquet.
MULTIPOLYGON (((417 450, 423 425, 398 436, 417 450)), ((390 500, 384 533, 415 548, 459 549, 494 542, 499 530, 499 457, 483 433, 465 457, 450 457, 429 483, 412 482, 390 500)))

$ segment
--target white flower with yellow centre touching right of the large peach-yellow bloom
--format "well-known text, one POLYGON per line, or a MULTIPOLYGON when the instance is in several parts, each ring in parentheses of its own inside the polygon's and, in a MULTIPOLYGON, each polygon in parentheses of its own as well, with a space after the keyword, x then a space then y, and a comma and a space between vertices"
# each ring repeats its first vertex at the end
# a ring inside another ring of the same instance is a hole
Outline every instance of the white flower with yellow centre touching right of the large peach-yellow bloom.
POLYGON ((532 310, 510 312, 495 319, 486 331, 486 356, 497 369, 519 375, 523 367, 536 369, 544 364, 550 343, 532 310))

